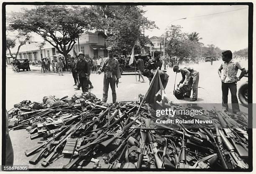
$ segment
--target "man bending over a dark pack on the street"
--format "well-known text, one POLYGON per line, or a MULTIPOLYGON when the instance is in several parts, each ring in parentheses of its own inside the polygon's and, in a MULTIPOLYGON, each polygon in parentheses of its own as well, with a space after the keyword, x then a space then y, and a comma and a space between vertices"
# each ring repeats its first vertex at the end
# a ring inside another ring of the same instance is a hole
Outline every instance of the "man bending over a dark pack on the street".
MULTIPOLYGON (((182 79, 177 85, 179 87, 180 84, 183 84, 184 80, 186 79, 186 84, 193 90, 193 97, 190 100, 191 102, 194 102, 197 100, 197 94, 198 94, 198 82, 199 82, 199 72, 194 70, 190 67, 184 67, 179 69, 177 65, 173 67, 174 72, 180 72, 182 74, 182 79)), ((190 98, 191 90, 187 92, 184 97, 190 98)))

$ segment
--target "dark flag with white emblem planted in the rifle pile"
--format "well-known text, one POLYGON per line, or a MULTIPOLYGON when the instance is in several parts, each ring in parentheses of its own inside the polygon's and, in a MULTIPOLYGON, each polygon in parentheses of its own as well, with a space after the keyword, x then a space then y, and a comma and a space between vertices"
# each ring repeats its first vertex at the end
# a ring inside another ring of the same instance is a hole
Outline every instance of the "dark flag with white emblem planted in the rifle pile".
POLYGON ((151 104, 154 110, 162 109, 169 105, 169 100, 166 97, 166 93, 160 79, 159 70, 155 72, 148 93, 145 96, 145 101, 151 104))

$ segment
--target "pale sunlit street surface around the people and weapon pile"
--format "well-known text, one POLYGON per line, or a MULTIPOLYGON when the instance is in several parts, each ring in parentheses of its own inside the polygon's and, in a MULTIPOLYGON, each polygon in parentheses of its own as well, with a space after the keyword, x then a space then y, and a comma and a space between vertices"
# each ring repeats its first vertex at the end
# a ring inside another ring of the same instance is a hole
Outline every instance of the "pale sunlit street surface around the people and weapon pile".
MULTIPOLYGON (((191 65, 194 69, 200 72, 198 99, 197 103, 221 103, 221 82, 218 76, 218 68, 222 61, 214 61, 211 66, 210 62, 200 62, 199 64, 191 65)), ((241 62, 246 68, 246 62, 241 62)), ((182 66, 181 66, 182 67, 182 66)), ((166 87, 166 94, 170 101, 177 101, 172 95, 174 88, 175 73, 171 68, 167 69, 169 74, 169 82, 166 87)), ((240 71, 238 71, 238 75, 240 71)), ((181 79, 181 74, 177 74, 176 84, 181 79)), ((91 90, 98 98, 102 99, 103 88, 103 73, 90 76, 94 88, 91 90)), ((138 80, 138 75, 137 75, 138 80)), ((149 81, 145 77, 146 83, 136 82, 134 75, 122 75, 119 80, 117 92, 117 101, 135 101, 138 100, 138 94, 145 94, 148 90, 149 81)), ((247 78, 241 79, 238 82, 239 86, 245 82, 247 78)), ((32 102, 42 102, 44 96, 55 95, 56 97, 71 97, 75 93, 82 93, 82 90, 74 90, 74 80, 72 74, 67 72, 64 76, 59 76, 58 73, 49 72, 41 74, 41 67, 31 66, 30 72, 15 73, 9 67, 6 68, 6 109, 10 110, 14 104, 22 100, 31 100, 32 102)), ((108 92, 108 102, 112 102, 111 89, 108 92)), ((179 100, 181 103, 191 103, 189 99, 179 100)), ((231 102, 229 96, 229 102, 231 102)), ((245 107, 241 110, 246 110, 245 107)), ((26 157, 24 151, 28 148, 37 145, 38 139, 30 140, 26 130, 11 130, 10 138, 14 149, 14 165, 29 165, 29 168, 43 168, 39 162, 36 165, 31 165, 28 160, 32 156, 26 157)), ((69 159, 57 160, 47 168, 61 168, 67 164, 69 159)), ((91 168, 92 166, 88 166, 91 168)), ((104 168, 104 166, 102 166, 104 168)))

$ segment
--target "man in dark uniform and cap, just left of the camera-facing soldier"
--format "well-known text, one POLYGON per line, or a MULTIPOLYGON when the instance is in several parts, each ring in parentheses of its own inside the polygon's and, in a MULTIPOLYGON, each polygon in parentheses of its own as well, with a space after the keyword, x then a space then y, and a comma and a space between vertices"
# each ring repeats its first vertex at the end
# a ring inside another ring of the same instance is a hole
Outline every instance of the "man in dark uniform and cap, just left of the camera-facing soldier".
POLYGON ((77 72, 79 77, 79 84, 82 87, 82 92, 88 92, 88 80, 90 79, 90 67, 86 60, 84 60, 84 53, 78 53, 79 61, 77 61, 77 72))

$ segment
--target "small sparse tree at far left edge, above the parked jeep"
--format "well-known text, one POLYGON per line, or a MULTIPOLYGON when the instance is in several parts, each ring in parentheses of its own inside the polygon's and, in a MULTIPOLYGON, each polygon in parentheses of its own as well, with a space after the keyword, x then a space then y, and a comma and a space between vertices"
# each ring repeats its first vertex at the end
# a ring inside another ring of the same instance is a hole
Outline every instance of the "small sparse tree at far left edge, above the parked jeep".
POLYGON ((6 42, 5 42, 6 50, 9 51, 10 56, 13 59, 17 59, 18 53, 20 51, 20 46, 23 46, 24 44, 26 44, 26 41, 28 41, 30 38, 31 38, 31 36, 27 32, 23 32, 23 31, 18 31, 18 33, 16 33, 15 38, 6 38, 6 42), (19 45, 18 45, 18 49, 15 53, 15 56, 13 56, 11 49, 13 49, 16 46, 17 40, 19 42, 19 45))

